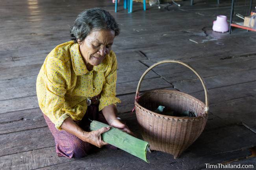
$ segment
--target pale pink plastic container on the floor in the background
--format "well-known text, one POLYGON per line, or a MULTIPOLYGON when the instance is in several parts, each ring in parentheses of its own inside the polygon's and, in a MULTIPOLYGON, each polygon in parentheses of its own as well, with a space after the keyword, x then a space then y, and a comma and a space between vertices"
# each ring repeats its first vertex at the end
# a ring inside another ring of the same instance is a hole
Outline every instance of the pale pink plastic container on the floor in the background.
POLYGON ((217 20, 213 21, 212 26, 213 31, 217 32, 227 32, 228 31, 228 22, 227 17, 225 15, 217 16, 217 20))

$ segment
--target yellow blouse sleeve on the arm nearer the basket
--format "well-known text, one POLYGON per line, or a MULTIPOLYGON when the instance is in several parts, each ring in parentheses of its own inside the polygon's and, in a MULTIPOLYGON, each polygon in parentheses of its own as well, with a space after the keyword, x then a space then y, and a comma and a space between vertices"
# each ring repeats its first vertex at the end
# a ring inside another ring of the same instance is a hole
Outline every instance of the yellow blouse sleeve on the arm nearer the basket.
POLYGON ((105 77, 105 83, 102 88, 99 110, 110 104, 120 103, 120 99, 116 97, 117 84, 117 59, 115 53, 112 53, 111 71, 105 77))

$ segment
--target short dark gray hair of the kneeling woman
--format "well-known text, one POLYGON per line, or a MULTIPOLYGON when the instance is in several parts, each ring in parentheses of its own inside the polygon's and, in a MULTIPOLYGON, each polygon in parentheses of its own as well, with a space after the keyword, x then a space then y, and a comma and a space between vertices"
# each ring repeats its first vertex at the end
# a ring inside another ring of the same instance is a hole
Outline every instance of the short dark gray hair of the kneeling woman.
POLYGON ((105 9, 92 8, 80 13, 74 25, 70 27, 72 40, 83 41, 93 30, 109 29, 115 31, 115 36, 119 35, 120 29, 115 18, 105 9))

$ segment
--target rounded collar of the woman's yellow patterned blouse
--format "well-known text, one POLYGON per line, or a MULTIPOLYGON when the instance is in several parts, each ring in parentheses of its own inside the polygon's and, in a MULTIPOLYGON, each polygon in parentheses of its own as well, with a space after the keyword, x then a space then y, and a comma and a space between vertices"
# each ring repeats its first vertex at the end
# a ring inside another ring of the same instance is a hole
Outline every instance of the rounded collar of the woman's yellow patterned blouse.
MULTIPOLYGON (((88 69, 86 68, 85 63, 83 62, 83 58, 80 53, 78 43, 75 43, 70 47, 70 56, 72 60, 72 66, 76 75, 84 75, 89 72, 88 69)), ((98 66, 93 66, 93 70, 98 72, 105 72, 107 71, 107 69, 108 69, 107 56, 98 66)))

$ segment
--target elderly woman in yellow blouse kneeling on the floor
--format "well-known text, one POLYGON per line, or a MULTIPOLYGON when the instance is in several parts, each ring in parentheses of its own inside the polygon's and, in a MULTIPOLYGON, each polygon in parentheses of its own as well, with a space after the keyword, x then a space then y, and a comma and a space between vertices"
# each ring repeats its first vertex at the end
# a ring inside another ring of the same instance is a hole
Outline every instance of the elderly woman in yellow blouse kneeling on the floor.
POLYGON ((110 127, 89 132, 89 119, 132 133, 116 115, 120 100, 115 97, 117 59, 111 46, 119 31, 108 11, 85 10, 70 28, 73 40, 45 58, 37 77, 37 98, 58 156, 83 157, 93 145, 107 144, 101 134, 110 127))

